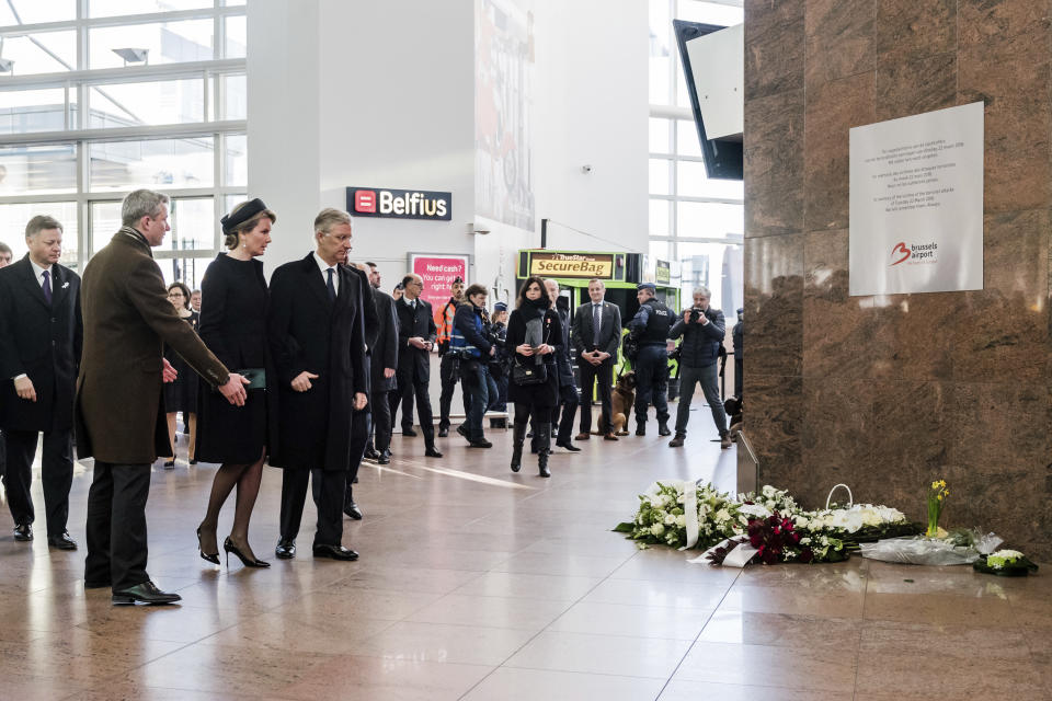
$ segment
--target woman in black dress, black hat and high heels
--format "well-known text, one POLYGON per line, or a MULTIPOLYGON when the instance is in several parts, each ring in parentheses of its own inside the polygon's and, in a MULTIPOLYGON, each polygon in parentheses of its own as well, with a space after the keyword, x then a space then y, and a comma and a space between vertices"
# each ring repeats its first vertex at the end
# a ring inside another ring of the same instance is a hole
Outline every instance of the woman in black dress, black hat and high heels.
MULTIPOLYGON (((240 372, 262 369, 270 379, 266 278, 256 256, 266 251, 271 225, 277 216, 262 200, 253 199, 235 207, 221 221, 230 252, 216 256, 205 274, 201 337, 228 368, 240 372)), ((208 562, 219 564, 219 509, 237 486, 233 528, 222 548, 248 567, 270 566, 258 560, 249 545, 249 520, 268 445, 267 401, 264 388, 250 387, 244 406, 231 405, 218 392, 202 392, 197 456, 206 462, 222 463, 211 483, 205 520, 197 529, 201 556, 208 562)))

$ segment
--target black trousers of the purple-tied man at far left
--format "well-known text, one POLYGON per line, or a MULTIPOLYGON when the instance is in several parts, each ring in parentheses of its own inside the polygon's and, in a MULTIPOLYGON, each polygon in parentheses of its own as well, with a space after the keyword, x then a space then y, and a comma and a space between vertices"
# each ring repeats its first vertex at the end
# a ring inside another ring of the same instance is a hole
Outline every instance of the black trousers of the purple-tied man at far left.
MULTIPOLYGON (((8 468, 3 486, 8 493, 11 518, 15 524, 32 524, 36 519, 31 495, 33 459, 36 458, 39 434, 35 430, 7 430, 4 436, 8 468)), ((68 428, 44 434, 41 482, 44 486, 47 535, 61 536, 69 518, 69 487, 73 483, 73 440, 72 432, 68 428)))

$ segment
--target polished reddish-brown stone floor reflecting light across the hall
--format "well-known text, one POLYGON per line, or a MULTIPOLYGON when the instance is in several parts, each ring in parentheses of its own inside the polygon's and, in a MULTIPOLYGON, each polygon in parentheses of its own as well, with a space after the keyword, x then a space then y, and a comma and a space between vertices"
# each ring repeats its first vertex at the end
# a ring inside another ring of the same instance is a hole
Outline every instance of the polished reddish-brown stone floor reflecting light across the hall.
MULTIPOLYGON (((687 564, 609 529, 654 479, 733 489, 733 449, 700 432, 682 450, 656 435, 593 439, 558 450, 541 480, 507 470, 510 434, 490 437, 491 450, 441 440, 444 460, 397 437, 389 469, 363 468, 352 564, 208 565, 194 528, 214 466, 158 467, 149 570, 178 607, 114 608, 108 590, 84 591, 83 551, 15 543, 3 508, 0 699, 1052 698, 1044 573, 687 564)), ((81 542, 90 480, 90 464, 78 469, 81 542)), ((279 489, 268 469, 251 533, 266 559, 279 489)))

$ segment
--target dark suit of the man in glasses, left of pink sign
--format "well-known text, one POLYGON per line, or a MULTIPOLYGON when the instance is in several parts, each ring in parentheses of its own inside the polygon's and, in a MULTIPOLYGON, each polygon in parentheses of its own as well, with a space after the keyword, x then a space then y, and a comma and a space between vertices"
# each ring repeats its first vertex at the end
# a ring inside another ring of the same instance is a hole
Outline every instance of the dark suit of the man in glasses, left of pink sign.
MULTIPOLYGON (((409 340, 419 336, 434 342, 438 327, 435 326, 431 304, 423 299, 416 299, 414 309, 403 297, 395 302, 395 311, 398 314, 398 387, 401 389, 401 400, 409 404, 415 397, 420 428, 427 446, 432 446, 435 443, 435 420, 427 392, 427 384, 431 382, 431 352, 414 348, 409 345, 409 340)), ((396 403, 391 414, 397 410, 396 403)), ((408 412, 405 414, 408 415, 408 412)))

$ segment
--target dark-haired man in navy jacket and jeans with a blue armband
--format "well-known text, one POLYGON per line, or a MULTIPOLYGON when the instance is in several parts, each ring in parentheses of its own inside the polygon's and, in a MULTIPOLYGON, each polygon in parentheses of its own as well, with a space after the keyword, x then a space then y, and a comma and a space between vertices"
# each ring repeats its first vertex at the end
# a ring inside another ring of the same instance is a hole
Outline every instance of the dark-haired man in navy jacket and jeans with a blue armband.
POLYGON ((496 353, 485 314, 487 291, 481 285, 471 285, 465 297, 468 303, 457 307, 453 319, 449 355, 459 361, 467 393, 465 423, 468 444, 473 448, 492 448, 493 444, 482 433, 487 406, 496 395, 496 383, 487 368, 488 360, 496 353))

